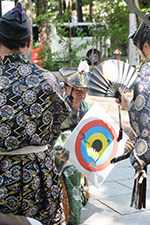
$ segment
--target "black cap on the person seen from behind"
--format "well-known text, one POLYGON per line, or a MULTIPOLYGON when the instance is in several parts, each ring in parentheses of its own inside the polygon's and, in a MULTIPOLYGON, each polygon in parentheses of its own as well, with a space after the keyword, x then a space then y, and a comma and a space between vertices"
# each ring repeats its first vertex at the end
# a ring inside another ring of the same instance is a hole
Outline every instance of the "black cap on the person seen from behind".
POLYGON ((20 2, 0 18, 0 34, 11 40, 22 40, 31 34, 27 16, 20 2))

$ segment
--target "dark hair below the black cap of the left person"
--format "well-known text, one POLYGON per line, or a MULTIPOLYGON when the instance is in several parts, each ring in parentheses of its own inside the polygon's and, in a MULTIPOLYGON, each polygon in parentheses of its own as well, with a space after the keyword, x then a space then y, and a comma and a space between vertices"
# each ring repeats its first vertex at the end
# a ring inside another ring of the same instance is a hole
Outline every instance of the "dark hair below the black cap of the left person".
POLYGON ((30 41, 30 36, 28 36, 25 39, 22 40, 10 40, 7 39, 5 37, 3 37, 0 34, 0 44, 4 45, 6 48, 12 50, 12 49, 17 49, 19 50, 19 48, 24 48, 27 44, 27 42, 30 41))

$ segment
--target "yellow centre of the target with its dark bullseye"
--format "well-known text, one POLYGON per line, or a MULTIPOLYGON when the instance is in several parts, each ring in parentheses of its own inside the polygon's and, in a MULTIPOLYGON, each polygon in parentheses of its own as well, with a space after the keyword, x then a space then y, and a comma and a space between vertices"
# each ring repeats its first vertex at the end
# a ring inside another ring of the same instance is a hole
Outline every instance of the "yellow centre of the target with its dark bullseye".
POLYGON ((87 154, 93 159, 99 159, 107 147, 107 138, 101 133, 92 134, 86 142, 87 154))

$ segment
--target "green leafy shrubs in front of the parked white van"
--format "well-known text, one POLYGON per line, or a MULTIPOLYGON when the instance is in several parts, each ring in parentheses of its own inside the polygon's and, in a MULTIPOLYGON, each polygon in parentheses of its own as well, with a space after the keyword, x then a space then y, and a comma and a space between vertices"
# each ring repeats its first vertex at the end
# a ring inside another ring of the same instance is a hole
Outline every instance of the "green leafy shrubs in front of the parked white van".
MULTIPOLYGON (((87 46, 91 46, 94 43, 101 44, 101 47, 107 48, 107 44, 103 39, 103 34, 106 32, 105 26, 99 26, 98 24, 94 27, 89 25, 89 35, 91 40, 86 40, 84 44, 73 44, 73 37, 80 37, 81 40, 88 36, 87 30, 83 27, 70 27, 64 26, 63 24, 55 24, 57 27, 57 34, 60 37, 59 43, 61 44, 61 52, 52 53, 47 47, 42 49, 42 65, 48 70, 58 70, 60 67, 78 67, 81 60, 86 60, 86 55, 84 57, 79 57, 78 52, 86 49, 87 46), (94 30, 93 30, 94 29, 94 30), (94 40, 92 41, 92 35, 94 35, 94 40), (103 39, 103 40, 102 40, 103 39)), ((99 49, 100 51, 100 49, 99 49)), ((99 56, 97 56, 99 57, 99 56)))

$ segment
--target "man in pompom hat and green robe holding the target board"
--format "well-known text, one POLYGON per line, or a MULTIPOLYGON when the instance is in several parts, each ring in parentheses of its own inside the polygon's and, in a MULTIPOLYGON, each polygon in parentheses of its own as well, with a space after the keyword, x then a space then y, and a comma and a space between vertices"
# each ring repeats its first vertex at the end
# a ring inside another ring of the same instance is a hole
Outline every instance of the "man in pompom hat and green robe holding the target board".
MULTIPOLYGON (((69 152, 62 148, 62 145, 91 107, 91 104, 85 101, 90 72, 89 66, 85 61, 79 64, 79 68, 61 68, 59 72, 64 80, 64 99, 71 108, 71 113, 61 125, 61 135, 54 146, 54 157, 58 171, 60 174, 62 173, 61 178, 63 180, 61 179, 61 181, 63 186, 65 184, 69 198, 70 219, 69 208, 66 209, 67 206, 64 203, 66 223, 78 225, 80 224, 81 207, 86 204, 89 198, 88 181, 68 161, 69 152), (64 167, 66 161, 67 166, 64 167), (71 174, 71 176, 68 174, 71 174), (75 187, 77 187, 76 193, 75 187), (84 187, 86 187, 86 191, 83 193, 82 188, 84 187)), ((64 197, 64 201, 66 202, 66 197, 64 197)))

